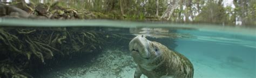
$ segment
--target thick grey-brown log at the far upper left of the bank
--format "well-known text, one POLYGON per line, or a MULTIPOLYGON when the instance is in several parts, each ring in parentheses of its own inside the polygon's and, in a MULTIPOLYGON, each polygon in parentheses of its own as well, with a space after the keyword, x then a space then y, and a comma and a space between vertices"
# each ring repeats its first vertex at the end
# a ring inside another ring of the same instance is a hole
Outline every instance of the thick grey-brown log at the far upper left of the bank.
POLYGON ((0 17, 9 15, 10 17, 17 17, 17 18, 28 18, 29 13, 26 11, 19 9, 14 6, 5 5, 4 3, 0 3, 0 17))

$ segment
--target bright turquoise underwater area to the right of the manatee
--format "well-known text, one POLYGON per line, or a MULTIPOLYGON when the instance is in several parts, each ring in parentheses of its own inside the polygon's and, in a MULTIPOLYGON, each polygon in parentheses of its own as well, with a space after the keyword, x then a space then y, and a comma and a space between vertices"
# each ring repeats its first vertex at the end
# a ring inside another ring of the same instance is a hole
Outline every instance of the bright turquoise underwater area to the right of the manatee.
POLYGON ((175 49, 191 59, 195 77, 255 77, 255 36, 196 30, 178 32, 197 36, 177 39, 175 49))

